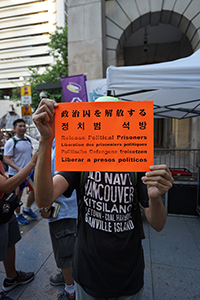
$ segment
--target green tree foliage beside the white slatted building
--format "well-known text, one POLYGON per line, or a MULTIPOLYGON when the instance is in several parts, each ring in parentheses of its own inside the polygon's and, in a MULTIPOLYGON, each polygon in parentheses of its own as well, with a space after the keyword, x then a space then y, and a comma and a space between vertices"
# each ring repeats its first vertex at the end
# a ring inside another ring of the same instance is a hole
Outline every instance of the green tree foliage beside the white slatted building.
MULTIPOLYGON (((29 67, 30 78, 24 82, 24 86, 31 85, 31 106, 34 111, 40 102, 39 94, 41 91, 37 91, 37 85, 60 82, 61 77, 68 75, 67 27, 56 27, 55 33, 49 33, 49 37, 49 54, 54 57, 55 63, 46 67, 42 74, 40 74, 40 67, 29 67)), ((12 92, 12 100, 19 100, 20 88, 16 88, 12 92)), ((60 102, 61 90, 48 90, 45 92, 49 98, 60 102)))

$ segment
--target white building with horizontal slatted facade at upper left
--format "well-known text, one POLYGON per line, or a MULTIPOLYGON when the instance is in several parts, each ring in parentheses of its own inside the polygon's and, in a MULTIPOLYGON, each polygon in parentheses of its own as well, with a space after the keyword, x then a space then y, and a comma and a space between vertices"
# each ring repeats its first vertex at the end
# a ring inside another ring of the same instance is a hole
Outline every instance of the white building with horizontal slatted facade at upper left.
POLYGON ((0 90, 23 86, 28 67, 53 64, 48 33, 67 22, 66 0, 0 1, 0 90))

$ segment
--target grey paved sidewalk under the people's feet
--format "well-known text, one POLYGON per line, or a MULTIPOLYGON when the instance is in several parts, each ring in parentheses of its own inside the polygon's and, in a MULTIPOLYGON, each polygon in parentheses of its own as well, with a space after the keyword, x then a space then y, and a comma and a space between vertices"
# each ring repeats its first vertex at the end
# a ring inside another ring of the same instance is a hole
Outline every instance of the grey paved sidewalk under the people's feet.
MULTIPOLYGON (((23 195, 23 202, 26 201, 23 195)), ((22 239, 16 246, 16 266, 34 271, 35 279, 18 286, 8 295, 14 300, 56 300, 63 286, 53 287, 49 277, 57 271, 49 237, 47 220, 40 217, 29 225, 20 226, 22 239)), ((144 220, 146 238, 145 286, 143 300, 200 299, 200 219, 197 217, 168 216, 160 233, 144 220)), ((0 282, 5 276, 0 263, 0 282)))

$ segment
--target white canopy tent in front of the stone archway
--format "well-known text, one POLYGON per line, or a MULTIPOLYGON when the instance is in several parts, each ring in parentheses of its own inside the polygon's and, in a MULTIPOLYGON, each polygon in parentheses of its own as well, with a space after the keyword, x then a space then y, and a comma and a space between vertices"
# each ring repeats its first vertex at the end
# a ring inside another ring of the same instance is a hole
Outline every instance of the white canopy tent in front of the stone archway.
POLYGON ((153 100, 158 118, 200 116, 200 50, 175 61, 107 68, 107 91, 123 100, 153 100))

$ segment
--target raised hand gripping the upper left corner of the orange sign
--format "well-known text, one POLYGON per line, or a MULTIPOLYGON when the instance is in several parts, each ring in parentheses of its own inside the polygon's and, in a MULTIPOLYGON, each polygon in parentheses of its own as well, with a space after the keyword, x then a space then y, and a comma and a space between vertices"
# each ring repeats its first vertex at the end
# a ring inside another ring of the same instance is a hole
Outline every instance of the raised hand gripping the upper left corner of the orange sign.
POLYGON ((58 104, 54 100, 42 99, 33 115, 33 122, 37 126, 42 139, 53 140, 55 134, 54 114, 58 104))

